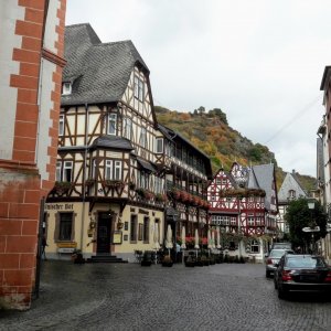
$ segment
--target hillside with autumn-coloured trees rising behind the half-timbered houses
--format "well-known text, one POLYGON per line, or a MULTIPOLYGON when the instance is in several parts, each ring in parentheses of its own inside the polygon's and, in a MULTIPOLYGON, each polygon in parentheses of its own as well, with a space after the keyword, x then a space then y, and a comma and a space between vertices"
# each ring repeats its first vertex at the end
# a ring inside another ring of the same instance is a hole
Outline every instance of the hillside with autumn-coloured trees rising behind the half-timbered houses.
MULTIPOLYGON (((281 185, 285 172, 277 166, 275 154, 266 146, 253 143, 229 127, 226 114, 220 108, 206 111, 200 107, 192 113, 179 113, 156 106, 156 113, 160 124, 180 132, 211 158, 214 172, 221 167, 229 170, 234 161, 245 166, 273 162, 277 167, 278 189, 281 185)), ((297 175, 306 190, 314 188, 313 178, 297 175)))

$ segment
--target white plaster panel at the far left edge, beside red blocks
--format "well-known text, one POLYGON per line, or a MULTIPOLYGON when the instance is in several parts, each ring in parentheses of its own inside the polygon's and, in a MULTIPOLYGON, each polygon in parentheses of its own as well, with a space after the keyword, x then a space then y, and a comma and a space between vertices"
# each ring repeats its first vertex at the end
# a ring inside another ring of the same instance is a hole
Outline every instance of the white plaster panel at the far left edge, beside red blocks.
POLYGON ((15 20, 24 19, 24 9, 18 1, 0 0, 0 159, 12 158, 17 88, 10 87, 10 75, 19 74, 19 63, 12 61, 14 47, 21 47, 22 38, 14 34, 15 20))

